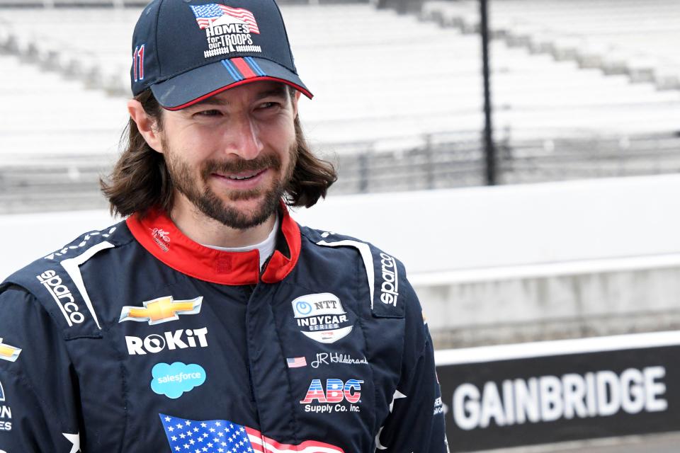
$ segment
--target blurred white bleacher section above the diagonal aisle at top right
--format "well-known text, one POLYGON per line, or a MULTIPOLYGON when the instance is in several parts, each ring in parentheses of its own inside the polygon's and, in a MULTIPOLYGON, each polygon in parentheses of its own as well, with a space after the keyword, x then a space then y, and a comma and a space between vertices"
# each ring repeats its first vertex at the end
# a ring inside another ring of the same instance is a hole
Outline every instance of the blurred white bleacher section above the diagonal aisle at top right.
MULTIPOLYGON (((428 1, 422 16, 469 32, 479 27, 478 9, 476 0, 428 1)), ((680 89, 677 1, 503 0, 490 2, 490 11, 494 35, 509 45, 680 89)))

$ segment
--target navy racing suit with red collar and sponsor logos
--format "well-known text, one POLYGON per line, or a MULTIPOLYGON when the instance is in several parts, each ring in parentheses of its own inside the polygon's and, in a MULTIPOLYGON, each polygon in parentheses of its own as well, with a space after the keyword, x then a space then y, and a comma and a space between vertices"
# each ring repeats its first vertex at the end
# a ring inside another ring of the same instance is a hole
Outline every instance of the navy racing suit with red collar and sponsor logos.
POLYGON ((152 212, 8 277, 0 451, 446 452, 402 263, 280 216, 262 270, 152 212))

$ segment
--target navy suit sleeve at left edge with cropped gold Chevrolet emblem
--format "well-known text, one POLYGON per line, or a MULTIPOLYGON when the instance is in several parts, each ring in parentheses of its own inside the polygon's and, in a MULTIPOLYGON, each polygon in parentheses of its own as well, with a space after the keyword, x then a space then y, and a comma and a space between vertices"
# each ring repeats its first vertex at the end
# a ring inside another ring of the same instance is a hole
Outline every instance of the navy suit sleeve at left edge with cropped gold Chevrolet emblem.
POLYGON ((77 452, 77 385, 64 338, 32 294, 0 291, 0 451, 77 452))

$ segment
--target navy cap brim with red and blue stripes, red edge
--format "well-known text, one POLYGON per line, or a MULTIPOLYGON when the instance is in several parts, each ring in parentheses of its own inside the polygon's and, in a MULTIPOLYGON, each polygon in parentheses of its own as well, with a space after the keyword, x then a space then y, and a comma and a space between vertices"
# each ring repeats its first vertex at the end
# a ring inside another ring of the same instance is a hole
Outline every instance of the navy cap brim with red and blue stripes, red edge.
POLYGON ((180 110, 217 93, 254 81, 280 81, 308 98, 312 93, 300 77, 271 60, 237 57, 206 64, 151 86, 154 97, 167 110, 180 110))

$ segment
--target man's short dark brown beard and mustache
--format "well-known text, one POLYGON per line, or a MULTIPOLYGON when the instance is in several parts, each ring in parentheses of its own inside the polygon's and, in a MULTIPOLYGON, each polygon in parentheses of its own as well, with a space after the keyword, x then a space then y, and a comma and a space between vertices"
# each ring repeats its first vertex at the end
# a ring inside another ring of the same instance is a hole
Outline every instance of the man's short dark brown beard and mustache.
MULTIPOLYGON (((166 147, 166 149, 168 149, 166 147)), ((171 151, 169 149, 169 151, 171 151)), ((205 161, 200 168, 198 181, 195 173, 186 161, 179 158, 178 153, 171 151, 165 154, 166 166, 174 188, 184 195, 200 212, 234 229, 249 229, 266 222, 278 210, 278 204, 288 187, 297 162, 297 147, 295 144, 288 149, 288 168, 283 169, 281 159, 277 154, 261 154, 255 159, 237 159, 229 161, 205 161), (278 173, 270 188, 256 188, 250 190, 229 190, 218 196, 208 181, 213 173, 228 174, 242 171, 263 171, 269 169, 278 173), (227 200, 224 200, 226 196, 227 200), (229 205, 229 201, 249 200, 262 197, 262 202, 253 210, 243 212, 229 205)))

